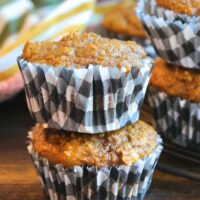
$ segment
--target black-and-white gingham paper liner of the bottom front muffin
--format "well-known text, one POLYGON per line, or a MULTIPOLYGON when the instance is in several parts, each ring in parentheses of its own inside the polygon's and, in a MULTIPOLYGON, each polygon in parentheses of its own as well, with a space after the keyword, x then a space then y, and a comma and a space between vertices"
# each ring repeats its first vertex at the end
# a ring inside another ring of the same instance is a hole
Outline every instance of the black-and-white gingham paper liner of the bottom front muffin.
MULTIPOLYGON (((33 138, 33 132, 29 132, 33 138)), ((154 168, 162 151, 162 140, 146 158, 132 166, 64 168, 39 157, 30 140, 28 151, 40 177, 42 187, 51 200, 142 200, 152 181, 154 168)))

